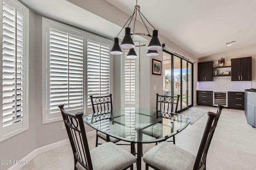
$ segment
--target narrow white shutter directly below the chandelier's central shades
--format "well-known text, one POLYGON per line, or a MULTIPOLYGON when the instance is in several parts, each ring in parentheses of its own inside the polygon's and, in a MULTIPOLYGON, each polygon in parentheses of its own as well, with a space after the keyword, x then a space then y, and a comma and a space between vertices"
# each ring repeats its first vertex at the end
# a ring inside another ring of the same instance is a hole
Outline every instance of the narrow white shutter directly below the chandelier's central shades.
POLYGON ((135 104, 136 103, 136 59, 127 58, 129 49, 125 49, 125 103, 135 104))

